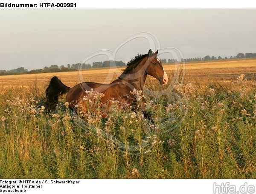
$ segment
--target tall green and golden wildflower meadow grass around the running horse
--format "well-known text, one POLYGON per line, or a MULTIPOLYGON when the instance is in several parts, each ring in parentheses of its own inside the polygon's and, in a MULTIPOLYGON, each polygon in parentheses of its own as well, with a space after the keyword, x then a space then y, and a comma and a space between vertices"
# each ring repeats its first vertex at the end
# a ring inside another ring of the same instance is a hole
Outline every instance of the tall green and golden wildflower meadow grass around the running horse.
POLYGON ((168 101, 154 80, 146 87, 155 124, 115 103, 107 118, 93 110, 73 117, 64 99, 46 114, 36 108, 45 97, 37 80, 5 88, 0 178, 256 178, 256 81, 186 82, 172 91, 183 103, 168 101))

